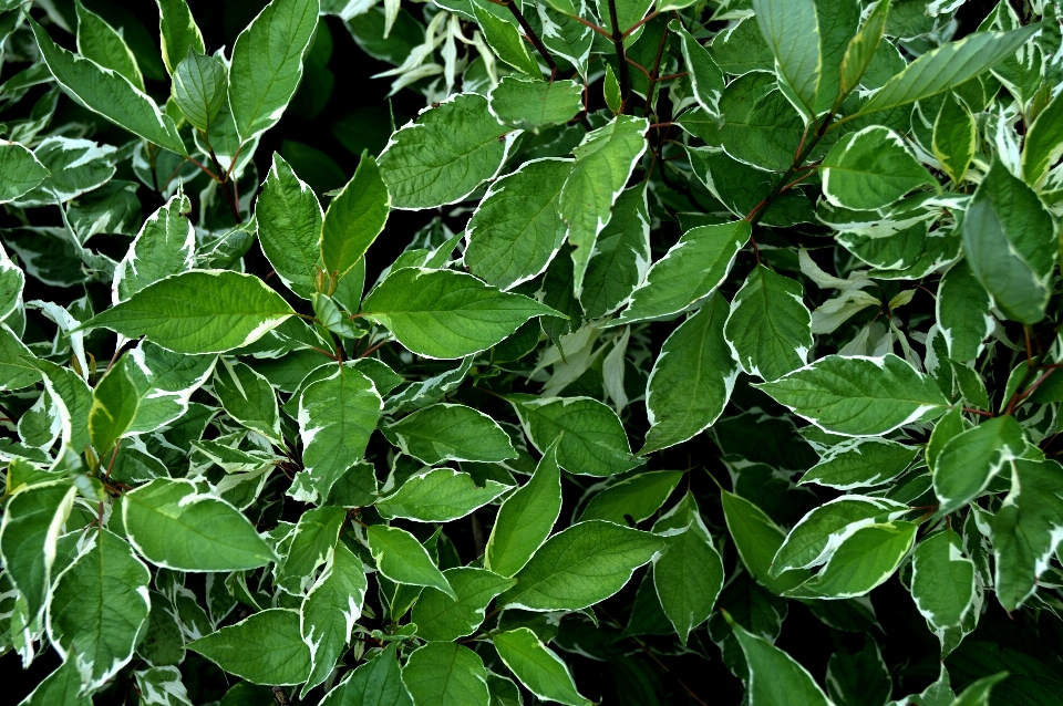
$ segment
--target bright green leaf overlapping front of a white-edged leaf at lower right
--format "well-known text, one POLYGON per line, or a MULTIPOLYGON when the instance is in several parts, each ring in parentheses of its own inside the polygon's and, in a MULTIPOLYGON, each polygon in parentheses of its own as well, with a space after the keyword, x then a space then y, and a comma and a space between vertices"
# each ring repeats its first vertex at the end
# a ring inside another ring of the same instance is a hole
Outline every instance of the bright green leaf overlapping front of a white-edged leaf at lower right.
POLYGON ((900 520, 860 527, 842 540, 819 573, 792 592, 833 599, 865 595, 894 575, 918 529, 900 520))

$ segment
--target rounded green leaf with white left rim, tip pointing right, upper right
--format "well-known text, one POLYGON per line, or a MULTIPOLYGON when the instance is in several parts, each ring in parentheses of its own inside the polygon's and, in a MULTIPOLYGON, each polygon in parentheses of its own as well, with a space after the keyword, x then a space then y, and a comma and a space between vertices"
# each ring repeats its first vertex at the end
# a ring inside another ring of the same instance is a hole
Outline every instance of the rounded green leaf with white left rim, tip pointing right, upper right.
POLYGON ((885 208, 920 186, 938 184, 888 127, 846 135, 823 160, 824 196, 843 208, 885 208))

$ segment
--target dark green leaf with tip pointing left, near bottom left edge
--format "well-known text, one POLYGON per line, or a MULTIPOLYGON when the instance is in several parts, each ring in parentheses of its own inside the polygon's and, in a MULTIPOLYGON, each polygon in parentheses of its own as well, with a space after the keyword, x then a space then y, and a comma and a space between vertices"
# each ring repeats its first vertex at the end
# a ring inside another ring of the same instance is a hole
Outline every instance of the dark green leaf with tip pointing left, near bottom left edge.
POLYGON ((310 648, 299 634, 299 612, 274 608, 189 643, 229 674, 251 684, 289 686, 310 675, 310 648))

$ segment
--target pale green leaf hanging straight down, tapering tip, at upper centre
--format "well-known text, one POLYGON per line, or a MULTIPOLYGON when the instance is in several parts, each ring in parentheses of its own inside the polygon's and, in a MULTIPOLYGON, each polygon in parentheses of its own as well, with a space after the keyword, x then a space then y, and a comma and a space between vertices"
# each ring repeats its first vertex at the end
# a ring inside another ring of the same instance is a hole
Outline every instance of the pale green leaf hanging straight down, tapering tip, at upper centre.
POLYGON ((572 149, 576 164, 558 204, 561 219, 568 224, 568 241, 576 247, 572 262, 577 295, 598 233, 609 222, 612 205, 646 152, 648 128, 646 118, 618 115, 609 124, 587 133, 572 149))

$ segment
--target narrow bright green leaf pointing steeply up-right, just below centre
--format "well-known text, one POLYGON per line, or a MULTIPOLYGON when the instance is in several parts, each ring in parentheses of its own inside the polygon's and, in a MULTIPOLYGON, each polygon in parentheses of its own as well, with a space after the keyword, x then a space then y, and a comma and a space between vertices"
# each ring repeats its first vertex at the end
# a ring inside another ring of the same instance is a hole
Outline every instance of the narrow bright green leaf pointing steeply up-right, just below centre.
POLYGON ((514 577, 549 537, 561 512, 561 471, 555 440, 543 451, 535 473, 513 492, 495 518, 487 539, 484 565, 503 577, 514 577))

